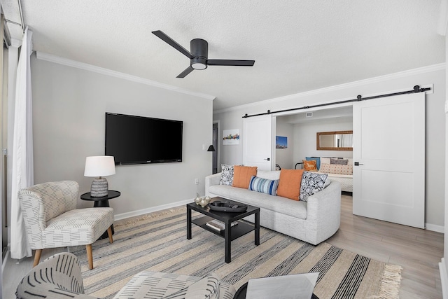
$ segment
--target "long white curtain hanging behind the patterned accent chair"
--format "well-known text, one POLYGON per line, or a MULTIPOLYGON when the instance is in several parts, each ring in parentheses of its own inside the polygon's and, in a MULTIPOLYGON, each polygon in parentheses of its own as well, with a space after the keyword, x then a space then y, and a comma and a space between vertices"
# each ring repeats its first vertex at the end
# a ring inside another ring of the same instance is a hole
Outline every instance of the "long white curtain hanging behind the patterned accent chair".
POLYGON ((31 106, 31 36, 33 32, 25 29, 20 50, 15 88, 15 118, 13 136, 13 176, 11 181, 11 258, 32 256, 27 241, 25 223, 18 200, 18 191, 34 184, 33 167, 33 118, 31 106))

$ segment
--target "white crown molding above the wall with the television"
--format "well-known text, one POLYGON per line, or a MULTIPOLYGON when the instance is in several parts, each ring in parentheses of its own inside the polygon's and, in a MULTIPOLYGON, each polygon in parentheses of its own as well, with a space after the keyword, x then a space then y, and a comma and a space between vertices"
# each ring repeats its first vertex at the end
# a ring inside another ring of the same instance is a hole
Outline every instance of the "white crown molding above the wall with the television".
POLYGON ((43 53, 43 52, 39 52, 36 51, 36 58, 38 60, 45 60, 48 62, 54 62, 57 64, 62 64, 62 65, 66 65, 67 67, 75 67, 77 69, 83 69, 85 71, 92 71, 94 73, 98 73, 98 74, 103 74, 106 76, 111 76, 111 77, 116 77, 116 78, 121 78, 127 81, 132 81, 132 82, 136 82, 136 83, 141 83, 141 84, 145 84, 145 85, 150 85, 156 88, 162 88, 165 90, 171 90, 174 92, 179 92, 179 93, 183 93, 186 95, 192 95, 194 97, 201 97, 203 99, 210 99, 210 100, 214 100, 216 99, 215 96, 213 95, 207 95, 201 92, 193 92, 191 90, 186 90, 183 88, 178 88, 176 86, 173 85, 168 85, 168 84, 164 84, 164 83, 160 83, 160 82, 156 82, 156 81, 152 81, 152 80, 148 80, 145 78, 141 78, 141 77, 137 77, 137 76, 132 76, 130 74, 125 74, 125 73, 120 73, 119 71, 112 71, 111 69, 104 69, 103 67, 96 67, 92 64, 86 64, 83 62, 77 62, 75 60, 69 60, 67 58, 63 58, 63 57, 59 57, 59 56, 55 56, 55 55, 51 55, 51 54, 47 54, 47 53, 43 53))

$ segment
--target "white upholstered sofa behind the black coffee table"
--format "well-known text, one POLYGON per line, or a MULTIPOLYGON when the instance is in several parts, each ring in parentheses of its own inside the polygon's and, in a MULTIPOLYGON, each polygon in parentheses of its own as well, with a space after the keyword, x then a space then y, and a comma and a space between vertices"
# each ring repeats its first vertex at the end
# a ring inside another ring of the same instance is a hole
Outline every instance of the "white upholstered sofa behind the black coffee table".
MULTIPOLYGON (((272 179, 276 174, 259 175, 272 179)), ((272 171, 274 173, 274 171, 272 171)), ((278 173, 279 176, 279 172, 278 173)), ((310 195, 307 202, 268 195, 244 188, 220 185, 221 172, 205 178, 205 193, 260 207, 260 225, 311 244, 319 244, 337 232, 340 225, 341 186, 330 181, 323 190, 310 195)), ((245 220, 254 222, 254 216, 245 220)))

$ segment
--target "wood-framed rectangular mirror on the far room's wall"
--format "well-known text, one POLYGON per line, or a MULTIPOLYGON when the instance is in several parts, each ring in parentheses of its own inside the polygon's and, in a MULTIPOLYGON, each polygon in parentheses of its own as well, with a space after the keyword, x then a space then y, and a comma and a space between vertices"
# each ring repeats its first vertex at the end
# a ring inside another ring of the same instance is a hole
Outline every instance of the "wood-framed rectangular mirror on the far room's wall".
POLYGON ((317 132, 316 149, 353 151, 353 131, 317 132))

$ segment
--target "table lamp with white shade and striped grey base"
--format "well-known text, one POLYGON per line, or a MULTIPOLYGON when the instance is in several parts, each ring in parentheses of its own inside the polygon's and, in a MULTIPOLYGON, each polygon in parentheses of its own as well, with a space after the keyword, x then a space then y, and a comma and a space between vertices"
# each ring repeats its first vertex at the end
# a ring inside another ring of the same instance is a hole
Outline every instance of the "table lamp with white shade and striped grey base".
POLYGON ((90 186, 90 196, 103 197, 109 193, 109 185, 103 176, 115 174, 115 160, 109 155, 97 155, 85 158, 84 176, 95 179, 90 186))

